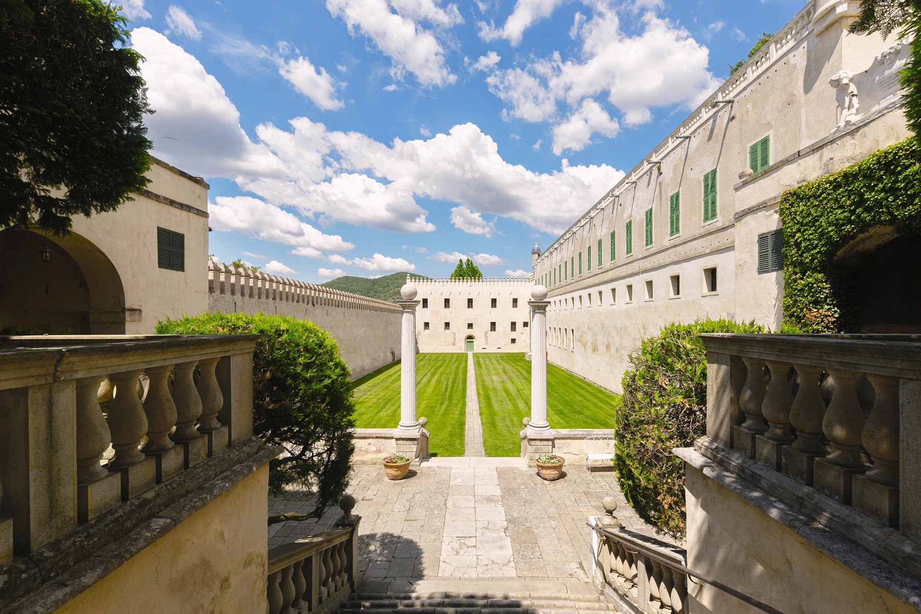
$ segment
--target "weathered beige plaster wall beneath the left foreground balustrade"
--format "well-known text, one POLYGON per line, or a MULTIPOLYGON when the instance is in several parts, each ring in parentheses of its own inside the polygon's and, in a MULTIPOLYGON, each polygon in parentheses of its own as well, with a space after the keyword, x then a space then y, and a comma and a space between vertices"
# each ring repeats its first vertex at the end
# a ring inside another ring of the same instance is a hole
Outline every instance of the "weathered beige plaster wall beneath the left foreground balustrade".
POLYGON ((262 466, 57 614, 264 612, 268 476, 262 466))

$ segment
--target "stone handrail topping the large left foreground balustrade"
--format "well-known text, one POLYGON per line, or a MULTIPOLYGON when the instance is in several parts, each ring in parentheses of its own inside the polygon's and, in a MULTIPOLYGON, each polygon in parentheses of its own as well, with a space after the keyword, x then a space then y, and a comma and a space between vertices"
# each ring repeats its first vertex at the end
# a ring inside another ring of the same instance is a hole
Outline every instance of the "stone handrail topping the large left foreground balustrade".
POLYGON ((0 337, 0 390, 251 352, 257 335, 0 337))

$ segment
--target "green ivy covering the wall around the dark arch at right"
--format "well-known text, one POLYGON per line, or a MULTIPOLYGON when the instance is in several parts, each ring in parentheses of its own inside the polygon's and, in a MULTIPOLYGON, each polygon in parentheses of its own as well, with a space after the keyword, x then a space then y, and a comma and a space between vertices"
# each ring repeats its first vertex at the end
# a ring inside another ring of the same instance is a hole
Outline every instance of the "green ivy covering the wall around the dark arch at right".
POLYGON ((781 195, 785 329, 857 332, 856 289, 835 255, 874 227, 921 233, 919 163, 912 136, 781 195))

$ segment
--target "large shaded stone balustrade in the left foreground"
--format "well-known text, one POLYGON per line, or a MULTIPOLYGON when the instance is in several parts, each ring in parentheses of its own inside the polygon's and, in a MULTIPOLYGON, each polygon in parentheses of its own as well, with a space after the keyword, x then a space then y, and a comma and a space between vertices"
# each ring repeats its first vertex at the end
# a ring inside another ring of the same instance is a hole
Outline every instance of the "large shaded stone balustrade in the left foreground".
POLYGON ((250 438, 256 338, 0 337, 0 563, 250 438))

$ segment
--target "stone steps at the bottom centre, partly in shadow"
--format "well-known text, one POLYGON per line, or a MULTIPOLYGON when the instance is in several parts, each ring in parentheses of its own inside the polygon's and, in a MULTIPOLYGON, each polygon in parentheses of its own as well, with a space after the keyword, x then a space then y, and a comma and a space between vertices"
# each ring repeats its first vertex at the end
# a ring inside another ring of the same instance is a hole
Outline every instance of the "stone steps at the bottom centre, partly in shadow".
MULTIPOLYGON (((358 592, 340 614, 605 614, 612 606, 586 583, 457 580, 401 592, 358 592), (549 585, 548 585, 549 584, 549 585), (581 585, 579 585, 581 584, 581 585), (445 590, 425 590, 443 588, 445 590), (423 590, 418 590, 423 589, 423 590), (555 590, 554 590, 555 589, 555 590), (561 590, 562 589, 562 590, 561 590)), ((373 590, 373 588, 372 588, 373 590)))

